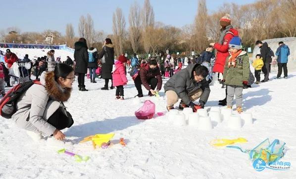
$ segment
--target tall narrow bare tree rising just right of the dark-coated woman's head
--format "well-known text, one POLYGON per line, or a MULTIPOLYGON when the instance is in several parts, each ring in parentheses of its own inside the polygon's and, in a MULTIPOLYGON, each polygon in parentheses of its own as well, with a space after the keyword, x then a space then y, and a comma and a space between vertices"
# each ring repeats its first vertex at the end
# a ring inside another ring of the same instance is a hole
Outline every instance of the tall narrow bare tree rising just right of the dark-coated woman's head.
POLYGON ((113 39, 115 41, 115 53, 120 55, 123 52, 123 40, 124 40, 124 31, 125 31, 125 18, 122 13, 121 8, 116 8, 116 11, 113 13, 113 39))

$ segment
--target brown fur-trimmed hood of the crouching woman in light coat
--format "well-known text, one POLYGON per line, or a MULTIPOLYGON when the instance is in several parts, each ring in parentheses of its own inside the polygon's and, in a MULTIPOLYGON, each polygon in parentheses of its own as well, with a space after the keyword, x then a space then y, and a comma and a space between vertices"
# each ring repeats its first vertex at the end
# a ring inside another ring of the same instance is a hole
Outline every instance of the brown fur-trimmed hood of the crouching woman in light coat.
POLYGON ((49 96, 57 101, 67 101, 70 98, 72 88, 63 89, 55 80, 53 72, 44 72, 40 77, 40 83, 45 87, 49 96))

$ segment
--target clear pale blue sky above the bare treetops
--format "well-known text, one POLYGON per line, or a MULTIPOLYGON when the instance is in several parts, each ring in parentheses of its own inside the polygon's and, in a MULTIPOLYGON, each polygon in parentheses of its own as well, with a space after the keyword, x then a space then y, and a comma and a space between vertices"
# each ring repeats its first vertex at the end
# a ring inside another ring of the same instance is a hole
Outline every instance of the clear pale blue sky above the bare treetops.
MULTIPOLYGON (((135 0, 5 0, 1 5, 0 30, 18 27, 21 32, 46 29, 65 33, 67 23, 72 23, 78 35, 78 23, 81 15, 91 14, 95 30, 112 33, 112 15, 117 7, 122 8, 128 23, 129 8, 135 0), (3 16, 5 14, 5 16, 3 16)), ((144 0, 136 0, 142 7, 144 0)), ((211 13, 224 2, 239 4, 252 3, 255 0, 207 0, 207 9, 211 13)), ((191 24, 197 13, 197 0, 150 0, 155 21, 166 25, 182 27, 191 24)), ((128 24, 127 24, 128 25, 128 24)))

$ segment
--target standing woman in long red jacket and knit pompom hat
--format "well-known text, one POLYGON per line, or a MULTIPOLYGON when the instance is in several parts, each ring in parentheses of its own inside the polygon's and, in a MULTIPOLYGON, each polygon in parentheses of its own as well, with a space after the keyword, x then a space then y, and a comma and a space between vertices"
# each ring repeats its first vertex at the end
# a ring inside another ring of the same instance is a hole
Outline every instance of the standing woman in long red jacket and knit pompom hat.
MULTIPOLYGON (((210 44, 214 46, 214 48, 217 50, 216 61, 213 67, 213 73, 217 72, 218 78, 220 73, 223 74, 226 58, 229 55, 229 52, 228 52, 229 42, 234 36, 239 36, 239 32, 235 30, 231 25, 229 14, 226 14, 225 16, 223 16, 220 19, 219 24, 220 24, 220 31, 221 31, 219 42, 210 44)), ((226 89, 226 93, 227 93, 227 89, 226 89)), ((226 97, 223 100, 219 100, 219 105, 223 105, 223 106, 226 105, 226 97)))

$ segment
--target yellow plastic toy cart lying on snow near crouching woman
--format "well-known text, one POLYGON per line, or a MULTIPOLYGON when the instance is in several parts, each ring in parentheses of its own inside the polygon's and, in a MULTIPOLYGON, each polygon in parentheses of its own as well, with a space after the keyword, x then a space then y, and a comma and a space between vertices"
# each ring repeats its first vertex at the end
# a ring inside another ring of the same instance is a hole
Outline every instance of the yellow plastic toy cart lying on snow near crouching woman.
POLYGON ((90 136, 85 137, 79 143, 92 140, 94 149, 96 149, 96 146, 99 146, 102 149, 106 149, 110 145, 110 140, 111 140, 111 138, 113 138, 113 136, 114 136, 114 133, 90 135, 90 136))

